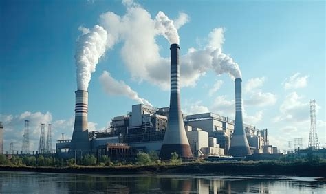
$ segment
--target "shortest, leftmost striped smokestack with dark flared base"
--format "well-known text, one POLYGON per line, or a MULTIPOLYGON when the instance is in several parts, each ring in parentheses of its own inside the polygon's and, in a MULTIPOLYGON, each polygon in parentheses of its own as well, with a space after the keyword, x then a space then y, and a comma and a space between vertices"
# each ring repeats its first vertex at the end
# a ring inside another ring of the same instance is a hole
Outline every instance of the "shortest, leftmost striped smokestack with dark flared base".
POLYGON ((76 107, 75 107, 75 124, 72 133, 72 142, 70 143, 71 151, 86 151, 89 149, 88 137, 88 91, 77 90, 76 107))

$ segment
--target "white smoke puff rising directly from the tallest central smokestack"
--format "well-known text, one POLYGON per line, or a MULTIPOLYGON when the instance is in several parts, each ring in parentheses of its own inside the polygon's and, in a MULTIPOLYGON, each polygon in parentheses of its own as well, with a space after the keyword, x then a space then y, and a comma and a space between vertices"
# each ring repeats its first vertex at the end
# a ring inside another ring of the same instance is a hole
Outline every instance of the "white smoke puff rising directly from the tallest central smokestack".
POLYGON ((162 34, 170 44, 179 44, 179 34, 177 34, 177 28, 173 25, 173 20, 169 19, 164 12, 158 12, 155 19, 157 21, 155 27, 159 30, 160 34, 162 34))

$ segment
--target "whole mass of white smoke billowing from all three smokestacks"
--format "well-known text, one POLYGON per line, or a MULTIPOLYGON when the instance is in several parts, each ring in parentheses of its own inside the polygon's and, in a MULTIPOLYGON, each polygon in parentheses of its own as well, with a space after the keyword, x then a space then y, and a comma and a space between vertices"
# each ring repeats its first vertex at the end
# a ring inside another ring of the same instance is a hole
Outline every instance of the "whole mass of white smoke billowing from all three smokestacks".
MULTIPOLYGON (((84 35, 80 36, 75 56, 78 89, 87 89, 98 59, 106 49, 120 42, 122 61, 133 80, 169 89, 170 58, 160 56, 156 37, 164 36, 170 43, 179 43, 177 28, 185 25, 190 17, 180 13, 177 19, 172 20, 164 12, 158 12, 153 19, 138 3, 124 1, 123 4, 127 8, 126 14, 120 16, 105 12, 100 15, 100 26, 96 25, 91 30, 80 28, 84 35)), ((231 78, 241 78, 239 65, 221 51, 224 28, 214 28, 204 40, 206 46, 203 49, 191 48, 180 56, 181 87, 195 86, 197 80, 210 70, 216 74, 229 74, 231 78)))

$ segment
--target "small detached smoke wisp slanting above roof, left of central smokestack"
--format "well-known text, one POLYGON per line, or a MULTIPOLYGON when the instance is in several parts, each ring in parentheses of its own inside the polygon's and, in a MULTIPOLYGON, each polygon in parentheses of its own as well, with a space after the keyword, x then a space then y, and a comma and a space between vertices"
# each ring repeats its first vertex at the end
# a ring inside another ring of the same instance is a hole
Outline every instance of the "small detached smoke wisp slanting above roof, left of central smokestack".
POLYGON ((133 91, 129 85, 123 81, 115 80, 107 71, 104 71, 100 76, 100 83, 102 84, 105 92, 109 95, 127 96, 130 99, 136 100, 138 103, 152 106, 148 100, 140 98, 138 93, 133 91))

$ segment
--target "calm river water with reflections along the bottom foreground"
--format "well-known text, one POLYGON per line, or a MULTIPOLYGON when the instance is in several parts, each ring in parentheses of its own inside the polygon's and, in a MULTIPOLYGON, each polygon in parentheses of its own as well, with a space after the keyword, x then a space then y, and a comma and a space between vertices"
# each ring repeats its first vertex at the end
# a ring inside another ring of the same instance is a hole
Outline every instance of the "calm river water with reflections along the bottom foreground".
POLYGON ((323 193, 304 177, 82 175, 0 172, 0 193, 323 193))

